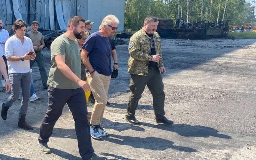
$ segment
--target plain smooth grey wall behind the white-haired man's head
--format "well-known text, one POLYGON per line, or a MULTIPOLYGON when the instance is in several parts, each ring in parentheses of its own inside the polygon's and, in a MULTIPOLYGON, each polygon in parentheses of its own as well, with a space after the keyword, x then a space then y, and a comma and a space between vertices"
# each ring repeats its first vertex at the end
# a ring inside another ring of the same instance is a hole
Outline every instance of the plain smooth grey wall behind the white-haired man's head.
POLYGON ((88 19, 94 22, 91 32, 98 31, 102 19, 109 14, 115 15, 120 21, 117 31, 123 31, 125 0, 88 0, 88 19))

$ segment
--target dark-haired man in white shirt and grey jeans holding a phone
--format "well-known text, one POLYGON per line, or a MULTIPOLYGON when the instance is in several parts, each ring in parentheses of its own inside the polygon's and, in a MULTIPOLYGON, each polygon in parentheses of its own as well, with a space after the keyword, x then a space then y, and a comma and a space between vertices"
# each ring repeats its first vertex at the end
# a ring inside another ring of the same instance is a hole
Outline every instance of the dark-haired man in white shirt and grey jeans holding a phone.
POLYGON ((33 130, 26 123, 28 102, 30 98, 31 69, 29 60, 35 59, 35 51, 30 38, 24 36, 27 24, 17 19, 13 24, 15 35, 6 41, 5 56, 8 60, 9 79, 12 88, 12 94, 8 97, 6 103, 2 104, 1 117, 7 119, 7 111, 19 97, 19 87, 22 89, 22 101, 19 112, 18 127, 33 130))

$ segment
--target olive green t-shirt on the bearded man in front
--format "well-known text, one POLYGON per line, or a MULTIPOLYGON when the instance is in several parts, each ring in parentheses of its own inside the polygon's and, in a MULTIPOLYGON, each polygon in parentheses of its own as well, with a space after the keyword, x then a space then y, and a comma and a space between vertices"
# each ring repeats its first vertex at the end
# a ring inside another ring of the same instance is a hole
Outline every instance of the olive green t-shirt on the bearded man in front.
POLYGON ((51 45, 51 68, 47 84, 59 89, 76 89, 79 86, 69 80, 57 68, 55 55, 65 55, 65 64, 81 79, 81 52, 78 42, 69 39, 64 34, 57 37, 51 45))

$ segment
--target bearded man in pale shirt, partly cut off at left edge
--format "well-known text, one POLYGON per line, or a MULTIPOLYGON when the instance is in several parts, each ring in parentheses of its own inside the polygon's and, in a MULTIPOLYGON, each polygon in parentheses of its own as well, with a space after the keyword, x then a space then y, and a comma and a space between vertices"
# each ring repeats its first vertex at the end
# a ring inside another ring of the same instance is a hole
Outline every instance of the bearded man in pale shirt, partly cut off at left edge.
MULTIPOLYGON (((0 19, 0 46, 2 48, 2 53, 3 53, 3 54, 0 54, 0 56, 2 56, 4 59, 6 70, 7 70, 7 59, 4 54, 4 48, 5 48, 5 42, 8 38, 9 38, 9 33, 7 30, 3 29, 3 21, 0 19)), ((7 74, 8 74, 8 70, 7 70, 7 74)), ((2 83, 2 86, 4 87, 5 86, 4 76, 2 76, 1 83, 2 83)))

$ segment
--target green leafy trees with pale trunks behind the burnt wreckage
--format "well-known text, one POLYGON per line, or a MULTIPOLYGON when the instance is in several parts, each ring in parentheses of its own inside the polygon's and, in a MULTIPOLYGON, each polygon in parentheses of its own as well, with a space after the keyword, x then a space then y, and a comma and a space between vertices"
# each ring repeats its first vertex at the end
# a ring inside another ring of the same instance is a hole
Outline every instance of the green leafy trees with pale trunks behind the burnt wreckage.
POLYGON ((253 23, 254 7, 244 0, 125 0, 126 29, 138 30, 147 16, 192 23, 229 19, 230 25, 242 25, 253 23))

